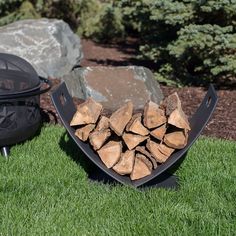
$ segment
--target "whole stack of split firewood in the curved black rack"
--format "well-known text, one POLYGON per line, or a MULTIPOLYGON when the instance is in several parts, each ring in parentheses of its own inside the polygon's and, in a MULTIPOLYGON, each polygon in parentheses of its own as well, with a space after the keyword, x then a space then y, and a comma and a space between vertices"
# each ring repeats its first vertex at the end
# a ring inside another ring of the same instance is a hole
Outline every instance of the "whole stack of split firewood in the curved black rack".
POLYGON ((160 105, 147 102, 143 114, 133 115, 132 102, 110 117, 102 111, 100 103, 88 98, 77 105, 70 125, 80 140, 91 144, 107 168, 129 175, 131 180, 150 175, 175 149, 187 144, 190 126, 177 93, 160 105))

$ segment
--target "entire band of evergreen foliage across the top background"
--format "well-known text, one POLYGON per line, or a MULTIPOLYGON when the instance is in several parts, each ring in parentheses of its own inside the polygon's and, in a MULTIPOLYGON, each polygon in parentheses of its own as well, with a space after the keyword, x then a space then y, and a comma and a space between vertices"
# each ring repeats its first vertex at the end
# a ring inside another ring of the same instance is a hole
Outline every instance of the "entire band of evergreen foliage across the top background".
POLYGON ((0 25, 39 17, 96 41, 138 38, 162 81, 235 81, 236 0, 0 0, 0 25))

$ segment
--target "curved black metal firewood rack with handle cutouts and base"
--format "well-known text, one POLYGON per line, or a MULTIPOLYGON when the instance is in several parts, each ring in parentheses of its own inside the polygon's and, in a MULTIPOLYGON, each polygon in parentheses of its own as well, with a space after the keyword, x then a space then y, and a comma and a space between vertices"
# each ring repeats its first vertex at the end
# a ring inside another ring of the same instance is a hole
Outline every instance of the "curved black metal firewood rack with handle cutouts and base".
MULTIPOLYGON (((70 126, 70 121, 76 112, 76 107, 73 103, 71 96, 68 93, 65 83, 62 83, 58 88, 53 91, 52 101, 64 124, 67 132, 77 144, 77 146, 87 155, 87 157, 100 168, 100 171, 95 171, 89 173, 91 179, 93 180, 103 180, 109 181, 110 179, 116 180, 120 183, 131 185, 134 187, 139 186, 158 186, 158 187, 176 187, 177 178, 170 174, 168 171, 170 169, 177 169, 183 160, 184 155, 187 153, 188 149, 196 141, 204 127, 206 126, 208 120, 210 119, 215 106, 217 104, 217 95, 214 87, 211 85, 208 92, 203 99, 201 105, 199 106, 196 113, 190 119, 191 131, 189 132, 188 143, 185 148, 181 150, 176 150, 166 162, 162 163, 157 169, 152 171, 152 174, 139 180, 132 181, 128 176, 121 176, 117 174, 112 169, 108 169, 96 152, 93 151, 88 143, 79 140, 75 136, 75 129, 70 126), (109 178, 108 178, 109 177, 109 178)), ((109 181, 110 182, 110 181, 109 181)))

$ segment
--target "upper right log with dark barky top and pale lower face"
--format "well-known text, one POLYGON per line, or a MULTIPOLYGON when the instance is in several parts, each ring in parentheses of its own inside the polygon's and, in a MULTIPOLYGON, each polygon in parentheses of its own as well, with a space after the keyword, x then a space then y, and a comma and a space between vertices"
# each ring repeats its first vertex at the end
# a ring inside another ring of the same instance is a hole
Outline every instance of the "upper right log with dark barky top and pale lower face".
POLYGON ((169 116, 168 124, 174 125, 181 129, 191 129, 188 118, 182 110, 181 101, 176 92, 165 98, 161 106, 165 108, 166 115, 169 116))

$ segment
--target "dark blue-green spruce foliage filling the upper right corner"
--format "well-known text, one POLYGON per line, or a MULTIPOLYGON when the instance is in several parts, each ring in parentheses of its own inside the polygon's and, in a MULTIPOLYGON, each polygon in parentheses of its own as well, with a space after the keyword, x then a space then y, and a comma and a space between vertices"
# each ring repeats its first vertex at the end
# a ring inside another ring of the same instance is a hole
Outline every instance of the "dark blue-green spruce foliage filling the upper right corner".
POLYGON ((162 81, 235 78, 236 0, 117 0, 116 6, 126 30, 140 37, 139 57, 157 63, 162 81))

